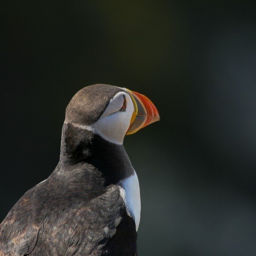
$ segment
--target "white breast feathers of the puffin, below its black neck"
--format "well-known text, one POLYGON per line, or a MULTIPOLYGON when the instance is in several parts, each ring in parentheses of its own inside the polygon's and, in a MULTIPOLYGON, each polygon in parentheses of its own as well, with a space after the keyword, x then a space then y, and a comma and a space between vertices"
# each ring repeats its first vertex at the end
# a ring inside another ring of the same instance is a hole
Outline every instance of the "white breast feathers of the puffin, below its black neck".
POLYGON ((128 215, 134 219, 136 230, 138 230, 141 218, 141 196, 136 172, 134 171, 133 175, 121 180, 116 185, 119 186, 120 195, 124 200, 126 211, 128 215))

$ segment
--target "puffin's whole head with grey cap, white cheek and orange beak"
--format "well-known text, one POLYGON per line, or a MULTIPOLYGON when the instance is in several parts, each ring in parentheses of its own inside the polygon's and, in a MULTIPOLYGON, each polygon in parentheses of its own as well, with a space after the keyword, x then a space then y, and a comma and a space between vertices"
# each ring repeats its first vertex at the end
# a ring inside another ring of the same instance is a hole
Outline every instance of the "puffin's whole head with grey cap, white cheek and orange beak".
POLYGON ((126 134, 160 120, 146 96, 112 85, 90 85, 70 100, 65 123, 90 130, 105 140, 122 145, 126 134))

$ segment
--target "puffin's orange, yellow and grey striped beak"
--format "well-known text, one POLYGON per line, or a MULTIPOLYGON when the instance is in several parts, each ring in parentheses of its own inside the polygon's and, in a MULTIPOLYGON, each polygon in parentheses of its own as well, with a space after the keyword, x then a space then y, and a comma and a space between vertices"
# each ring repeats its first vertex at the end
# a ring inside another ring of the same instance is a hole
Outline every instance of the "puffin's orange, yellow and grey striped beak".
POLYGON ((141 128, 160 120, 160 115, 146 96, 126 89, 134 103, 134 113, 126 134, 134 134, 141 128))

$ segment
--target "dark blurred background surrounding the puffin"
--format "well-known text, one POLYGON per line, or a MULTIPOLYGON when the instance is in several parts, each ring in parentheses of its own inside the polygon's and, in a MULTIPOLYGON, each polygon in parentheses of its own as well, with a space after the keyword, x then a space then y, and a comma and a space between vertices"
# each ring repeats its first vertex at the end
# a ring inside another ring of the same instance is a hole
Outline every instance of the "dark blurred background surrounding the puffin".
POLYGON ((139 255, 256 255, 253 5, 3 0, 0 27, 0 221, 56 167, 71 97, 106 83, 161 115, 125 140, 139 255))

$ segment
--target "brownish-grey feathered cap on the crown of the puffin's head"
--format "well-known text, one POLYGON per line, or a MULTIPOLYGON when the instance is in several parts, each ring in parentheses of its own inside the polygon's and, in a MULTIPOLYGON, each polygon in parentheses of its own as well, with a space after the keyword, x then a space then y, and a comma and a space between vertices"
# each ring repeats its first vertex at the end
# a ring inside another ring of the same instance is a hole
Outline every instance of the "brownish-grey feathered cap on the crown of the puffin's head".
POLYGON ((70 100, 66 109, 65 122, 91 125, 96 122, 116 93, 125 92, 122 88, 96 84, 81 89, 70 100))

